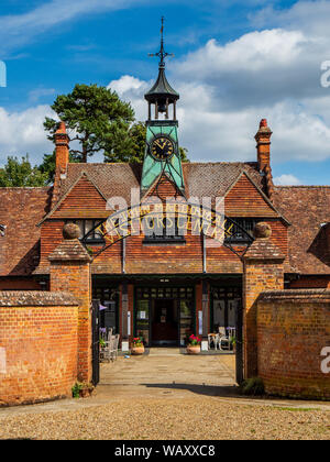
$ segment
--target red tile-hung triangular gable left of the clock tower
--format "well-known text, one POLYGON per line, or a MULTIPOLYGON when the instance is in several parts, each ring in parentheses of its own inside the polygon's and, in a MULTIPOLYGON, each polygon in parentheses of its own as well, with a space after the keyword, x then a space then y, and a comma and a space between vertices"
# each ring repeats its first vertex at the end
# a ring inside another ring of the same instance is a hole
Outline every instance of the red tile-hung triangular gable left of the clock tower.
POLYGON ((107 201, 90 179, 82 175, 54 210, 52 218, 103 218, 107 201))

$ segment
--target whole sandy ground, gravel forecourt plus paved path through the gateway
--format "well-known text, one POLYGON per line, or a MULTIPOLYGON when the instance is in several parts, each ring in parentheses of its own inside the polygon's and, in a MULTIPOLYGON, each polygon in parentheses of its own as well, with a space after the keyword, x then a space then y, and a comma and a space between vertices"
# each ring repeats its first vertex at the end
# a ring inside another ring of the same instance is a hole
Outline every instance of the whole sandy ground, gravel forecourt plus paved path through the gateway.
POLYGON ((152 349, 101 364, 90 398, 0 409, 0 438, 329 439, 328 403, 239 394, 234 355, 152 349))

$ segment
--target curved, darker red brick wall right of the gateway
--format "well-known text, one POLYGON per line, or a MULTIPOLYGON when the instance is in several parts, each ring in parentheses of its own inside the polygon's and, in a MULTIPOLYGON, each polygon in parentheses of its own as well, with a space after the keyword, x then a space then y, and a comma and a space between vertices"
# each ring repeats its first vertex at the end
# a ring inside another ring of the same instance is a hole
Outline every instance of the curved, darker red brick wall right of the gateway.
POLYGON ((321 350, 330 346, 330 290, 271 292, 257 302, 257 369, 266 392, 330 398, 321 350))

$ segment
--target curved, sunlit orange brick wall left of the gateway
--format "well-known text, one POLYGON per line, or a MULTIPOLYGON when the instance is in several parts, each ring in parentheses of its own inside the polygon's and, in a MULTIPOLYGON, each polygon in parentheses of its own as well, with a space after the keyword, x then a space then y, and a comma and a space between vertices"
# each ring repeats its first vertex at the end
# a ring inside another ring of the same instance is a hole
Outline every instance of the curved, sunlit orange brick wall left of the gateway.
POLYGON ((72 396, 77 317, 69 294, 0 293, 0 406, 72 396))

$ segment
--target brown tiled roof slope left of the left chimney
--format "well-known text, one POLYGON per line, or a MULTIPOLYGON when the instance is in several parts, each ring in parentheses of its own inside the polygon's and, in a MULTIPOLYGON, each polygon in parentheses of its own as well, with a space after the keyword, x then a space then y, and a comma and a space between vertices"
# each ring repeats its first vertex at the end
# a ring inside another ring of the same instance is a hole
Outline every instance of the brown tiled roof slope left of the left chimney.
POLYGON ((31 274, 38 263, 40 228, 52 188, 0 188, 0 275, 31 274))

